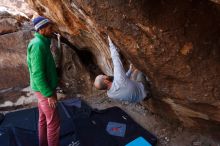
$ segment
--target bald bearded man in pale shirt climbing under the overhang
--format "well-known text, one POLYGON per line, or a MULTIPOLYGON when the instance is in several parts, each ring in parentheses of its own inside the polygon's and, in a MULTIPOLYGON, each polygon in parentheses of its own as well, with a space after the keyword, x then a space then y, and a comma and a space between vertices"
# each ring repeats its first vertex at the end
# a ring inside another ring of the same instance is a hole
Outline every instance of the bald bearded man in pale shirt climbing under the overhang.
POLYGON ((133 69, 133 65, 130 65, 130 69, 125 73, 117 47, 109 36, 108 42, 114 65, 114 76, 98 75, 94 82, 95 88, 107 90, 110 98, 121 101, 134 103, 148 99, 150 90, 145 75, 137 69, 133 69))

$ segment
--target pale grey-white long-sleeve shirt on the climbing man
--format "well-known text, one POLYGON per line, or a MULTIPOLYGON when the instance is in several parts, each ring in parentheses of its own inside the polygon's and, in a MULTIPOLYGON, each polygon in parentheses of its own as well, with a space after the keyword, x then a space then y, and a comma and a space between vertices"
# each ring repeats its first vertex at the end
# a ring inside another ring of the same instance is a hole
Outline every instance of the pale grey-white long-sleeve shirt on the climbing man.
POLYGON ((110 38, 109 47, 114 65, 114 80, 111 88, 107 91, 108 96, 128 102, 139 102, 143 100, 147 94, 144 90, 144 85, 140 82, 130 80, 128 77, 130 72, 127 72, 128 76, 126 75, 117 48, 110 38))

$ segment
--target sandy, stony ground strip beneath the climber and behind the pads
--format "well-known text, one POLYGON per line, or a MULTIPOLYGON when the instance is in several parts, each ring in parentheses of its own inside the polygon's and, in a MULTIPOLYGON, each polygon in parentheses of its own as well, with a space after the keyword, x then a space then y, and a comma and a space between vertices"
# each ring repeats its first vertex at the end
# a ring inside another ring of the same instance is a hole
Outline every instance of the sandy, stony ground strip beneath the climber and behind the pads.
MULTIPOLYGON (((36 98, 29 87, 21 89, 20 91, 14 89, 1 90, 0 96, 3 95, 14 96, 13 101, 1 101, 0 112, 3 113, 37 105, 36 98), (15 100, 16 98, 17 100, 15 100)), ((113 106, 122 108, 137 123, 157 136, 157 146, 220 146, 220 140, 215 141, 209 135, 202 135, 198 132, 183 128, 181 125, 169 123, 163 118, 149 112, 141 104, 114 101, 107 98, 105 93, 98 97, 76 96, 85 100, 93 108, 105 109, 113 106)), ((70 98, 71 96, 58 93, 58 97, 63 99, 70 98)))

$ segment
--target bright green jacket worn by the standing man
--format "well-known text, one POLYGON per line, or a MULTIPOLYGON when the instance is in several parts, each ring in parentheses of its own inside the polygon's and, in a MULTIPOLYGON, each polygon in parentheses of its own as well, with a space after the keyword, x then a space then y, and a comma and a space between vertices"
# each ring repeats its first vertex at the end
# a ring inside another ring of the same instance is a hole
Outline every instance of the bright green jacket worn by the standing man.
POLYGON ((27 64, 32 90, 45 97, 53 95, 58 77, 55 62, 50 51, 50 39, 35 33, 27 48, 27 64))

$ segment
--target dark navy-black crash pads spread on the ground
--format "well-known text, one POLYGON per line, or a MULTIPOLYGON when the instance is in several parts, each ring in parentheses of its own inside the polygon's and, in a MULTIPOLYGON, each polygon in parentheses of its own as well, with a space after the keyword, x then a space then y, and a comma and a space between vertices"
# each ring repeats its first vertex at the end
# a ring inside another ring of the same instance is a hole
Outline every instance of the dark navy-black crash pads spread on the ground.
MULTIPOLYGON (((157 138, 138 125, 118 107, 94 110, 79 99, 68 99, 58 104, 61 118, 61 146, 125 146, 138 137, 151 145, 157 138), (109 122, 126 125, 123 137, 106 131, 109 122)), ((38 146, 38 109, 31 108, 7 113, 0 123, 1 146, 38 146)))

